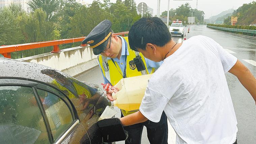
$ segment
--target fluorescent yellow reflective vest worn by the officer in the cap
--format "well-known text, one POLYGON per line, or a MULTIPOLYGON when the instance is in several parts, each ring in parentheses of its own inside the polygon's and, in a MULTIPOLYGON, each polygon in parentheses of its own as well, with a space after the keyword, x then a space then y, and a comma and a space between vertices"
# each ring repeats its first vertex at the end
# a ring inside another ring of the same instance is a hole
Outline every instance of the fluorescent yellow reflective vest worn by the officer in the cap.
MULTIPOLYGON (((134 76, 141 76, 141 71, 138 71, 136 68, 136 65, 132 63, 133 59, 136 57, 136 53, 135 51, 133 51, 130 46, 129 46, 129 42, 128 42, 128 37, 123 37, 124 40, 127 42, 127 48, 129 51, 129 55, 127 55, 127 60, 126 60, 126 77, 134 77, 134 76)), ((142 61, 146 67, 146 72, 147 74, 149 74, 149 71, 147 69, 147 65, 145 62, 145 58, 144 56, 140 53, 140 56, 142 58, 142 61)), ((99 65, 101 66, 101 69, 103 71, 104 76, 109 80, 109 82, 114 86, 116 85, 122 78, 123 76, 119 73, 122 72, 122 70, 120 69, 119 65, 117 64, 117 62, 115 62, 115 64, 113 63, 113 61, 107 60, 108 62, 108 70, 109 70, 109 77, 106 76, 104 67, 103 67, 103 59, 102 59, 102 55, 98 56, 98 60, 99 60, 99 65)), ((154 68, 152 68, 152 71, 150 72, 150 74, 152 74, 154 72, 154 68)), ((125 111, 125 110, 121 110, 123 116, 135 113, 138 110, 135 111, 125 111)))

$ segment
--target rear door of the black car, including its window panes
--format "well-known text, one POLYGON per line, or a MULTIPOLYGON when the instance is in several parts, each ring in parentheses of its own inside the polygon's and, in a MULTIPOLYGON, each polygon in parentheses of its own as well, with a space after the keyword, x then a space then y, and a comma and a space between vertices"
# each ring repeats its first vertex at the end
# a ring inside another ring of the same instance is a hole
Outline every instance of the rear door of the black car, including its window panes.
POLYGON ((87 132, 61 91, 35 81, 0 78, 0 143, 80 143, 82 137, 87 132))

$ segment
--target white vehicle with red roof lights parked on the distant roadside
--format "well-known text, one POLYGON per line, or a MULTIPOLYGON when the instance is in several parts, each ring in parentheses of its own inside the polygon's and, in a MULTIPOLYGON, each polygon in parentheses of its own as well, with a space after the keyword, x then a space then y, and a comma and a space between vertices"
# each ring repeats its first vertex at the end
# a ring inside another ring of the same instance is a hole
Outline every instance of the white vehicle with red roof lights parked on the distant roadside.
POLYGON ((171 26, 169 27, 169 31, 172 35, 181 35, 184 36, 184 28, 182 21, 176 20, 172 21, 171 26))

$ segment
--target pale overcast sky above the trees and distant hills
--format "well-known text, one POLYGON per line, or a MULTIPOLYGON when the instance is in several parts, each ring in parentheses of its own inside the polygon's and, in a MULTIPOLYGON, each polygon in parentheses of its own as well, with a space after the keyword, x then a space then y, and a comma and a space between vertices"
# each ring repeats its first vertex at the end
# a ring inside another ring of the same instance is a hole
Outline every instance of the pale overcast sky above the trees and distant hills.
MULTIPOLYGON (((83 0, 85 3, 92 3, 93 0, 83 0)), ((228 10, 230 8, 237 9, 244 3, 250 3, 253 0, 198 0, 197 9, 203 10, 205 13, 205 19, 211 16, 218 15, 222 11, 228 10)), ((110 0, 110 2, 115 3, 116 0, 110 0)), ((136 5, 140 2, 145 2, 147 6, 154 9, 153 14, 157 15, 157 0, 135 0, 136 5)), ((181 4, 190 3, 190 6, 196 8, 196 0, 185 0, 185 1, 173 1, 170 0, 170 8, 177 8, 181 4)), ((160 13, 167 10, 168 0, 160 1, 160 13)))

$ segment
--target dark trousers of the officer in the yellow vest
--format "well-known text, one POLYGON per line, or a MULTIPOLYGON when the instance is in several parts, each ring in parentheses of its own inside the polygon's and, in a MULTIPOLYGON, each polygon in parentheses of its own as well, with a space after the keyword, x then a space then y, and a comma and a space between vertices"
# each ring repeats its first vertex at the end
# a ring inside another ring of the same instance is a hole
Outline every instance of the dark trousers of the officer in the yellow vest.
MULTIPOLYGON (((121 117, 123 117, 122 113, 121 117)), ((141 144, 143 126, 147 128, 147 137, 150 144, 168 143, 167 117, 163 112, 160 121, 157 123, 147 120, 142 123, 124 126, 124 129, 128 132, 128 138, 125 140, 125 144, 141 144)))

